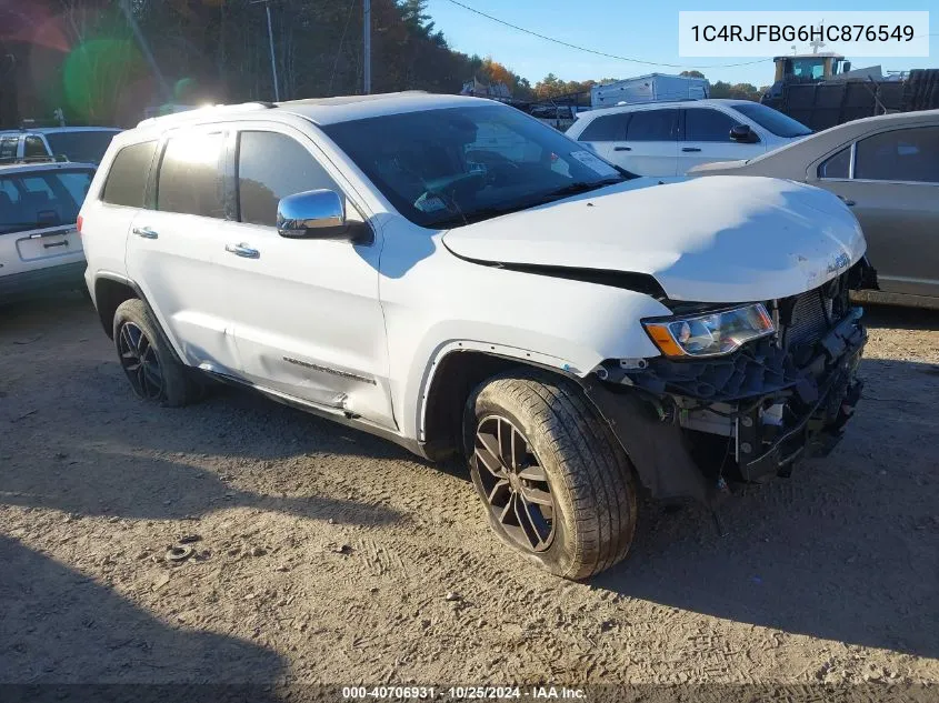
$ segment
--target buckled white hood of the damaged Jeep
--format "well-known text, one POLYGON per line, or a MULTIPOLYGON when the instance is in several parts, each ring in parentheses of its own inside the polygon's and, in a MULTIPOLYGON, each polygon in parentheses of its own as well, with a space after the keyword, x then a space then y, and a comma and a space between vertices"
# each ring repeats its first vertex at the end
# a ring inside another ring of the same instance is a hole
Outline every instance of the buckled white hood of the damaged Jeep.
POLYGON ((818 288, 865 253, 850 210, 801 183, 636 179, 447 232, 466 259, 647 273, 672 300, 745 302, 818 288))

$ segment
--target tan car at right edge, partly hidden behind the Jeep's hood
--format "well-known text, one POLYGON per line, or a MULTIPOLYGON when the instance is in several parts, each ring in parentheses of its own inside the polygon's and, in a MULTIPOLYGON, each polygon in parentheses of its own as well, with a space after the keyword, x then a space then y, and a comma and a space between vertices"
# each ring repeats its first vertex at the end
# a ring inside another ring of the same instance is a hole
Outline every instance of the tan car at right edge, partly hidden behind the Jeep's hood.
POLYGON ((939 308, 939 110, 839 124, 748 161, 688 175, 771 175, 831 191, 855 212, 880 291, 870 302, 939 308))

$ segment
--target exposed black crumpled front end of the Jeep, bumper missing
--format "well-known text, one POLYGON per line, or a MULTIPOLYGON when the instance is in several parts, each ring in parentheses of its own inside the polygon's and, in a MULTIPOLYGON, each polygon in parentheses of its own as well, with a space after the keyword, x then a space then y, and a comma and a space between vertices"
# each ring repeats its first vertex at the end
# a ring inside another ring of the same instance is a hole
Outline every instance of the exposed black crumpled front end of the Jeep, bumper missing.
POLYGON ((831 450, 860 399, 867 331, 849 291, 871 279, 862 260, 820 288, 762 301, 775 333, 728 355, 608 360, 586 392, 656 496, 712 503, 728 481, 788 475, 797 459, 831 450))

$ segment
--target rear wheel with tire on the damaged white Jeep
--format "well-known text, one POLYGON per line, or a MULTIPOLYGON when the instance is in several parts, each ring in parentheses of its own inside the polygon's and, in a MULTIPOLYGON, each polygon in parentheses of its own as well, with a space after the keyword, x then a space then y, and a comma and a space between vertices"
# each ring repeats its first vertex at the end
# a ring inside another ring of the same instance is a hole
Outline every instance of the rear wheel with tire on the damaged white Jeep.
POLYGON ((202 396, 201 384, 177 359, 142 300, 126 300, 114 311, 114 347, 138 398, 167 408, 181 408, 202 396))

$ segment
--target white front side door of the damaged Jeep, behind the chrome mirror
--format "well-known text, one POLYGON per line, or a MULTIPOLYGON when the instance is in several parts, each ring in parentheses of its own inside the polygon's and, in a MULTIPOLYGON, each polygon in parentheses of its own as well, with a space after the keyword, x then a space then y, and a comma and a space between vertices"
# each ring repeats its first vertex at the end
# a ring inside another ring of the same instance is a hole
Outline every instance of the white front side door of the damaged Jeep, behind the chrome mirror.
POLYGON ((327 189, 362 220, 351 189, 312 140, 280 124, 244 125, 232 144, 237 221, 217 245, 241 374, 267 389, 394 426, 376 241, 288 239, 278 202, 327 189))

